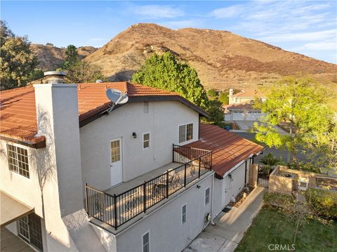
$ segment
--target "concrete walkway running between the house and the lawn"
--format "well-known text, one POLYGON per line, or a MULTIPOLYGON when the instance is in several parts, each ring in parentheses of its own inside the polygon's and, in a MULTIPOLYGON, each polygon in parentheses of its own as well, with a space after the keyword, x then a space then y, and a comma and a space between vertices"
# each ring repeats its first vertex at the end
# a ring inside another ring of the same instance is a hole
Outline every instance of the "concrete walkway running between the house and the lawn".
POLYGON ((256 187, 239 208, 233 207, 228 213, 221 212, 214 220, 216 225, 206 227, 183 252, 234 251, 263 206, 264 190, 264 187, 256 187))

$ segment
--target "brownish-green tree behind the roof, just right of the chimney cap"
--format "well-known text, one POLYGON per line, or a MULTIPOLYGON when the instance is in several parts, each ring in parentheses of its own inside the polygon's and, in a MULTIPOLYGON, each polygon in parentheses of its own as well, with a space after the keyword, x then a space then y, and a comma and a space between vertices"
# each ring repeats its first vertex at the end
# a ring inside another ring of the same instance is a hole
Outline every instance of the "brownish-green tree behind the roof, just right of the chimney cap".
POLYGON ((92 65, 86 61, 79 60, 65 69, 67 79, 72 83, 95 82, 100 79, 105 81, 107 78, 100 72, 100 67, 92 65))

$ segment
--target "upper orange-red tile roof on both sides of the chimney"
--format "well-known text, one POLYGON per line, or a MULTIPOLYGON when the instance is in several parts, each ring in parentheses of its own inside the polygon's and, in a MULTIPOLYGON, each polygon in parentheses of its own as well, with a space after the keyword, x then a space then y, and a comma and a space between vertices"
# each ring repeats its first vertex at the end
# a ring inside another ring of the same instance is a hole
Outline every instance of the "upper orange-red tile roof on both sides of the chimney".
MULTIPOLYGON (((180 97, 178 93, 163 91, 128 82, 79 84, 77 88, 79 102, 79 122, 107 110, 111 104, 105 95, 107 88, 116 88, 128 94, 129 101, 140 100, 179 100, 192 109, 206 114, 196 105, 180 97), (160 98, 160 99, 159 99, 160 98)), ((0 136, 28 143, 44 141, 36 137, 37 113, 35 110, 35 93, 33 86, 14 88, 0 92, 0 136)))

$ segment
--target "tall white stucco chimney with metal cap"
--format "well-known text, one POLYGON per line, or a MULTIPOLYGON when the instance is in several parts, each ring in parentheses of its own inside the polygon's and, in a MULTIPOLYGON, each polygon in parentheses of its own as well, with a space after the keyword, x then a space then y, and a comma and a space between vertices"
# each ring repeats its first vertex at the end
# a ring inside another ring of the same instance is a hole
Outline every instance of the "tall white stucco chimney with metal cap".
MULTIPOLYGON (((47 76, 65 75, 54 73, 47 76)), ((38 134, 46 136, 39 166, 53 173, 44 188, 45 206, 63 217, 83 208, 77 84, 35 84, 34 89, 38 134)))

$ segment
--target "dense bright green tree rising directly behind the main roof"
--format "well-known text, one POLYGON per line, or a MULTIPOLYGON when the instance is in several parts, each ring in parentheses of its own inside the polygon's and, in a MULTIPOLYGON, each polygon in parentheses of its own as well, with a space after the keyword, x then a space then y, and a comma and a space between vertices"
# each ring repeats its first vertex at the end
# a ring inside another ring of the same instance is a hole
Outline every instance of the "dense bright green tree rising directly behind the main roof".
POLYGON ((132 81, 145 86, 161 88, 180 93, 195 105, 206 107, 208 98, 197 72, 184 62, 178 62, 171 52, 163 55, 152 54, 132 81))

